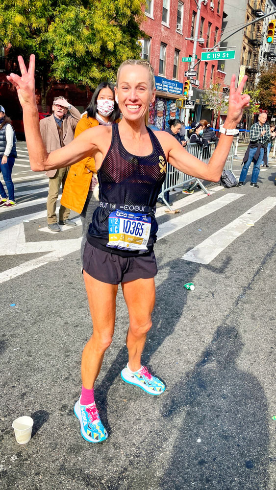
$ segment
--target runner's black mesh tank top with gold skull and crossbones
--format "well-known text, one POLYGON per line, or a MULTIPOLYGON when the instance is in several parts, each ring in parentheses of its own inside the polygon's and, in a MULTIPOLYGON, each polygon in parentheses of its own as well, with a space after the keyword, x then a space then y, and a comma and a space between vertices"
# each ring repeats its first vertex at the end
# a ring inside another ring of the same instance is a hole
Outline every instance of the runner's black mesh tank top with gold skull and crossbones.
MULTIPOLYGON (((134 206, 156 205, 157 197, 166 177, 166 156, 151 129, 147 128, 152 153, 137 156, 129 153, 122 145, 118 124, 112 125, 112 140, 106 157, 98 171, 99 199, 102 202, 128 204, 134 206)), ((138 251, 120 250, 107 247, 108 217, 110 210, 97 207, 87 233, 88 242, 106 252, 116 253, 123 257, 140 256, 138 251)), ((148 254, 156 242, 158 224, 151 215, 150 239, 147 244, 148 254)))

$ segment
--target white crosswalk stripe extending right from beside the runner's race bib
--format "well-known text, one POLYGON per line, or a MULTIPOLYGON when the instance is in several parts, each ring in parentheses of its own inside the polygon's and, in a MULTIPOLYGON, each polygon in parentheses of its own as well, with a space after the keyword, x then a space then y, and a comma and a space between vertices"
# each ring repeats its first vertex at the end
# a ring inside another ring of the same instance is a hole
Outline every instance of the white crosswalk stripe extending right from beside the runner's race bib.
POLYGON ((188 213, 183 214, 178 218, 175 218, 174 220, 162 223, 159 226, 157 240, 161 240, 167 235, 170 235, 171 233, 180 230, 184 226, 193 223, 193 221, 199 220, 201 218, 204 218, 205 216, 208 216, 211 213, 214 213, 215 211, 218 211, 223 206, 230 204, 231 202, 239 199, 242 196, 244 196, 244 194, 225 194, 224 196, 219 197, 212 202, 208 202, 208 204, 200 206, 193 211, 189 211, 188 213))

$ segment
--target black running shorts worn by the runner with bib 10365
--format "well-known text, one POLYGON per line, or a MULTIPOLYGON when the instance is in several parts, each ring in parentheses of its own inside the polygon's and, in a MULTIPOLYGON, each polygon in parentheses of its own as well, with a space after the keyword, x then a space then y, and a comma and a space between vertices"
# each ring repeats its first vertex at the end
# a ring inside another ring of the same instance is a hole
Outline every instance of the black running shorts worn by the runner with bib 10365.
POLYGON ((119 284, 156 276, 157 264, 154 251, 141 257, 121 257, 95 248, 86 242, 83 252, 83 270, 98 281, 119 284))

